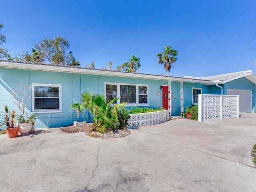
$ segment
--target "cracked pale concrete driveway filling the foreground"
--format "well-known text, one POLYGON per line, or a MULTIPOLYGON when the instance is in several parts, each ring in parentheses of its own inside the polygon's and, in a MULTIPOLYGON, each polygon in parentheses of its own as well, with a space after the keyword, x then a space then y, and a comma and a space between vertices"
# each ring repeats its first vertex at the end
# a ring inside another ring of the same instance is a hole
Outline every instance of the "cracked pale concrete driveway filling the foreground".
POLYGON ((117 139, 58 128, 0 135, 0 191, 256 191, 256 114, 131 131, 117 139))

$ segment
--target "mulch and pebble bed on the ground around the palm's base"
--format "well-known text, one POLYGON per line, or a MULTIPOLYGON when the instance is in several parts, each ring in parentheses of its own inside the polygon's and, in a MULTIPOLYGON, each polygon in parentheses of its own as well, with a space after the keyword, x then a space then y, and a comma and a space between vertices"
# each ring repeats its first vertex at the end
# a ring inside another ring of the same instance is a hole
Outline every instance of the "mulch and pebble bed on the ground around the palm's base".
POLYGON ((80 126, 80 127, 75 127, 74 125, 67 126, 67 127, 61 128, 60 130, 67 133, 85 132, 86 135, 90 137, 103 138, 103 139, 121 138, 121 137, 128 136, 131 133, 130 130, 123 129, 123 130, 117 130, 117 131, 109 131, 107 133, 101 134, 93 130, 91 123, 87 123, 85 126, 80 126))

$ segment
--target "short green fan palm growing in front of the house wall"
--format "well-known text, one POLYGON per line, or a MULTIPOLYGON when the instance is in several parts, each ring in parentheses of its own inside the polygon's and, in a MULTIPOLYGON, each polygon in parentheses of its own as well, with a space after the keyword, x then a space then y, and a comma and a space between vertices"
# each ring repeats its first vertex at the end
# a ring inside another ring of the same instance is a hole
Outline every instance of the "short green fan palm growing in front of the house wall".
POLYGON ((115 104, 119 98, 109 100, 102 93, 95 93, 92 90, 86 90, 81 93, 80 103, 76 102, 70 105, 71 109, 76 109, 77 114, 84 110, 89 110, 94 116, 94 128, 104 133, 108 130, 115 130, 120 126, 118 112, 125 106, 124 103, 115 104))

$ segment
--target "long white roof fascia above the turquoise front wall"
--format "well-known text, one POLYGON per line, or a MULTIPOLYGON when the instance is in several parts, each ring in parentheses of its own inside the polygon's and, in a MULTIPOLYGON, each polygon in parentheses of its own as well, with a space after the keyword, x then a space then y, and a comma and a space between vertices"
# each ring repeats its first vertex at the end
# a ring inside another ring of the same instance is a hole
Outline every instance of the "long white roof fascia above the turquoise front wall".
POLYGON ((39 70, 39 71, 52 71, 52 72, 65 72, 65 73, 77 73, 77 74, 92 74, 92 75, 105 75, 105 76, 119 76, 119 77, 132 77, 132 78, 144 78, 144 79, 156 79, 156 80, 171 80, 171 81, 183 81, 201 84, 211 84, 209 81, 204 80, 193 80, 186 78, 176 78, 170 76, 157 76, 150 74, 136 74, 136 73, 126 73, 118 71, 104 71, 104 70, 92 70, 83 68, 70 68, 70 67, 60 67, 60 66, 49 66, 44 64, 28 64, 19 62, 3 62, 0 61, 0 66, 4 68, 15 68, 22 70, 39 70))

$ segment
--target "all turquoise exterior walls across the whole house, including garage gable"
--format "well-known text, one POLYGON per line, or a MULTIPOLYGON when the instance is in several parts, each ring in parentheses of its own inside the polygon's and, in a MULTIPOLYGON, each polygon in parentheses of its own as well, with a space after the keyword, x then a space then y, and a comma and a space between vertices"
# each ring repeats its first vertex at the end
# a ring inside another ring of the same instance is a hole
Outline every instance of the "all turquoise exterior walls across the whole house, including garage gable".
MULTIPOLYGON (((162 90, 160 90, 160 86, 168 84, 168 82, 165 80, 0 68, 0 112, 4 110, 4 105, 7 105, 9 110, 14 109, 16 110, 16 114, 20 114, 16 104, 13 102, 14 99, 12 98, 10 92, 11 86, 18 88, 21 81, 22 86, 26 86, 27 91, 28 87, 32 83, 62 85, 62 112, 39 113, 38 119, 35 123, 36 128, 68 126, 73 124, 75 120, 92 122, 92 116, 90 116, 89 112, 85 112, 84 114, 77 116, 76 111, 70 111, 69 108, 70 104, 74 103, 74 100, 80 100, 80 93, 82 90, 92 89, 95 92, 104 93, 104 83, 106 82, 145 84, 148 85, 149 107, 162 108, 162 90), (156 93, 158 92, 160 92, 161 95, 157 95, 156 93)), ((228 89, 251 90, 252 112, 256 112, 256 93, 254 83, 242 77, 220 86, 223 87, 223 94, 226 94, 228 89)), ((215 85, 209 86, 200 83, 184 82, 184 112, 186 106, 189 106, 192 103, 192 88, 202 88, 203 94, 220 94, 220 88, 215 85)), ((180 82, 171 82, 171 97, 172 116, 179 116, 180 82)), ((28 116, 30 116, 30 112, 32 111, 31 100, 26 106, 26 111, 28 112, 28 116)), ((3 117, 0 116, 0 119, 2 118, 3 117)))

